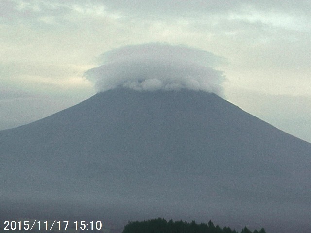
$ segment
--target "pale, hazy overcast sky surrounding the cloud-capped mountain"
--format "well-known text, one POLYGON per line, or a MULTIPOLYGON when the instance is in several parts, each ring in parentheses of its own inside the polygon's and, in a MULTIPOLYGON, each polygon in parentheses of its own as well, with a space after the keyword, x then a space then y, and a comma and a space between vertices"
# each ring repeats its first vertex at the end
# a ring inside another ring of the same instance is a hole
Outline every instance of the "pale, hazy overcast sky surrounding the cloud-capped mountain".
POLYGON ((224 62, 225 99, 311 142, 311 1, 0 0, 0 129, 96 93, 103 53, 144 43, 224 62))

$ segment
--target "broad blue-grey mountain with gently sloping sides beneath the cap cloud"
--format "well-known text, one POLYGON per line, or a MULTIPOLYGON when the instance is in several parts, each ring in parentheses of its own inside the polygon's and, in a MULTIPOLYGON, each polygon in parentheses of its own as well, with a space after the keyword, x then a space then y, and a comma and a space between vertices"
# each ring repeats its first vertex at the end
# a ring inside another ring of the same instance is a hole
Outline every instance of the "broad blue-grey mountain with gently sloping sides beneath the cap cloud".
POLYGON ((0 158, 1 219, 311 231, 311 144, 203 91, 98 93, 0 131, 0 158))

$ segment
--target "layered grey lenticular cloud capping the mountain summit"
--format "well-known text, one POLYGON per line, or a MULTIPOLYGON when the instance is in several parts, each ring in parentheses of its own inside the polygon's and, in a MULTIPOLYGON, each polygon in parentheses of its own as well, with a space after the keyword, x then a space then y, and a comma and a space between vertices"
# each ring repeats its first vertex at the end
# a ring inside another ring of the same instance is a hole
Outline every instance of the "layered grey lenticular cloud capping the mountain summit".
POLYGON ((103 65, 85 77, 99 92, 126 87, 140 91, 203 90, 222 94, 222 59, 203 50, 167 44, 142 44, 106 52, 103 65))

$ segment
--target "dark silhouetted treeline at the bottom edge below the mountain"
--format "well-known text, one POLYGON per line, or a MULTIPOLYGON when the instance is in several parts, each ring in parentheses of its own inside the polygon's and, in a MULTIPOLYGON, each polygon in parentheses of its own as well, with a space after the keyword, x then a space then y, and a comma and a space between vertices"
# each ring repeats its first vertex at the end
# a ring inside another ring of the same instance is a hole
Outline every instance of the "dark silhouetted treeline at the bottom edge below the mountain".
MULTIPOLYGON (((165 219, 151 219, 143 222, 135 221, 129 222, 124 226, 122 233, 238 233, 236 230, 231 230, 229 227, 221 228, 215 226, 212 221, 208 224, 197 224, 195 221, 191 223, 165 219)), ((262 228, 260 231, 251 231, 247 227, 242 229, 241 233, 266 233, 262 228)))

